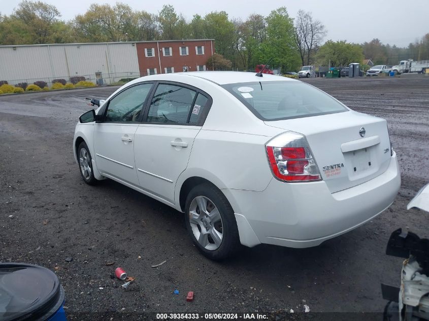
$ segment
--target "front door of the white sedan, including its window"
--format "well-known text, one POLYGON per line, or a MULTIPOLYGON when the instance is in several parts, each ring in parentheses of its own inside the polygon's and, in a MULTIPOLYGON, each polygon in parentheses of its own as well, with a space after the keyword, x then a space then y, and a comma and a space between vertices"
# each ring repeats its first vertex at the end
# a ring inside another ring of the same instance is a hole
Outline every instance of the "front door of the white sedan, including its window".
POLYGON ((97 168, 113 179, 139 185, 134 161, 134 134, 152 83, 121 91, 107 103, 104 121, 95 123, 94 151, 97 168))

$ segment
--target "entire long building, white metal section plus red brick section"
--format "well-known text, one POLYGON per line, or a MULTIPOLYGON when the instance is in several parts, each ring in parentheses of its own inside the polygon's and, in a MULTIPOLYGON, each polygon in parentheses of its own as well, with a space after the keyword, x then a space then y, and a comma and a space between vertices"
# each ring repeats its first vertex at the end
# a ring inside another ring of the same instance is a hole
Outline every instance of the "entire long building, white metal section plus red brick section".
POLYGON ((213 39, 0 46, 0 81, 84 77, 98 85, 148 74, 206 70, 213 39), (35 63, 37 61, 37 63, 35 63))

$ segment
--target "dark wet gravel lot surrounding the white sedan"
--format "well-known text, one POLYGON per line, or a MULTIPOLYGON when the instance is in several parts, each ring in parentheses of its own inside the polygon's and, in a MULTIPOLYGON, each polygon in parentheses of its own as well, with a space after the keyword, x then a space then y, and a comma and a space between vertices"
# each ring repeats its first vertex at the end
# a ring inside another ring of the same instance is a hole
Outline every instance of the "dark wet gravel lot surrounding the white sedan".
POLYGON ((78 116, 90 109, 82 98, 104 98, 117 87, 3 95, 0 261, 54 270, 69 319, 304 311, 304 304, 312 312, 382 311, 380 282, 398 284, 401 269, 401 259, 384 254, 390 232, 406 227, 427 236, 429 216, 406 205, 429 182, 429 77, 305 81, 388 120, 402 187, 372 223, 314 248, 260 245, 211 262, 192 245, 174 209, 110 180, 97 187, 81 180, 72 140, 78 116), (65 262, 68 257, 73 261, 65 262), (136 277, 126 291, 112 278, 117 266, 136 277), (193 302, 185 300, 188 291, 195 292, 193 302))

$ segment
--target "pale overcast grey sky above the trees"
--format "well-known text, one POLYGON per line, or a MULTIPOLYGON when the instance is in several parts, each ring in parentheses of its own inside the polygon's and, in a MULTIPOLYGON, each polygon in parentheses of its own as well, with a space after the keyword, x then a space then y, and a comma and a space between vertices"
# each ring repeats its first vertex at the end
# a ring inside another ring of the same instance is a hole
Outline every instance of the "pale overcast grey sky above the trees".
MULTIPOLYGON (((85 13, 91 3, 114 5, 117 0, 42 0, 57 7, 61 19, 70 20, 85 13)), ((245 20, 250 14, 267 16, 286 7, 291 17, 298 10, 310 11, 327 29, 324 40, 369 42, 378 38, 383 44, 407 47, 429 33, 429 0, 122 0, 134 10, 158 13, 165 4, 190 20, 194 14, 204 16, 212 11, 226 11, 229 18, 245 20)), ((0 12, 10 15, 20 0, 0 0, 0 12)))

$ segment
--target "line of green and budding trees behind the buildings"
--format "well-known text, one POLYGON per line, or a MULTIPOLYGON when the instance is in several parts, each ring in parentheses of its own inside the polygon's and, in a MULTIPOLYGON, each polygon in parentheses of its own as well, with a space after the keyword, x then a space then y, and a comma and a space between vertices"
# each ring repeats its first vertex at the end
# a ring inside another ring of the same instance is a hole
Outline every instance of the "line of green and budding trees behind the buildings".
POLYGON ((153 14, 118 2, 92 4, 84 14, 64 21, 55 6, 24 0, 10 16, 0 14, 1 45, 215 39, 216 52, 239 70, 254 69, 269 59, 283 71, 308 64, 342 66, 364 58, 375 64, 429 59, 429 33, 406 48, 378 39, 322 44, 325 36, 324 25, 310 12, 300 10, 293 18, 285 7, 266 17, 251 14, 246 20, 229 18, 225 11, 195 14, 188 20, 171 5, 153 14))

